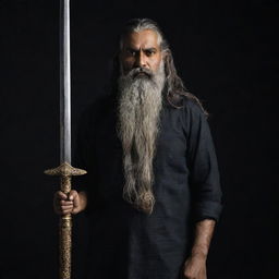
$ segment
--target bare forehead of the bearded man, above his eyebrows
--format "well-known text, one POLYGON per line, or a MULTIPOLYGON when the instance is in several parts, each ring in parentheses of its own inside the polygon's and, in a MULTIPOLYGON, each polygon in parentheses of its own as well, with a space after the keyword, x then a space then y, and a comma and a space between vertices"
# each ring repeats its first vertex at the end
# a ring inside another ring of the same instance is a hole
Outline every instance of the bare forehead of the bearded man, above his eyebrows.
POLYGON ((124 37, 124 48, 159 48, 158 34, 150 29, 129 33, 124 37))

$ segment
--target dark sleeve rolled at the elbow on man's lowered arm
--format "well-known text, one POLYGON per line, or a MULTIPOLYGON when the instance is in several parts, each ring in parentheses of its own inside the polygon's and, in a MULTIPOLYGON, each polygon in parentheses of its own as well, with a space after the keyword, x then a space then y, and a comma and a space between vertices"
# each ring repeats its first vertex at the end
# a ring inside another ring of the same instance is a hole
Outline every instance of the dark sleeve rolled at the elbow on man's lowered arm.
POLYGON ((205 113, 192 100, 185 100, 184 113, 193 218, 194 221, 203 219, 218 221, 222 209, 221 187, 209 125, 205 113))

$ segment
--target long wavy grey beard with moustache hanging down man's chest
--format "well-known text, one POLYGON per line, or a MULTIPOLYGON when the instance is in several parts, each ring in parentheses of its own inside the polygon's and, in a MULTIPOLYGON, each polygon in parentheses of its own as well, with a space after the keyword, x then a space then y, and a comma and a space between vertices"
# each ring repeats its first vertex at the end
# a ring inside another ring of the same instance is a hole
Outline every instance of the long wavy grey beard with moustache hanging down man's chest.
POLYGON ((151 214, 155 205, 153 160, 165 78, 163 61, 156 73, 137 68, 119 78, 118 134, 123 148, 123 198, 146 214, 151 214))

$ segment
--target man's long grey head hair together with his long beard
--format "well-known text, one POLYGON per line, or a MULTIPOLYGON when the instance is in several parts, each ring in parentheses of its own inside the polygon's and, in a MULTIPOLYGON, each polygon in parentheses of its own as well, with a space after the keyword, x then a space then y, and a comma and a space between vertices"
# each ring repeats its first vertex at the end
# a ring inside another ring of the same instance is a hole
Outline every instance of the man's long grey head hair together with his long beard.
MULTIPOLYGON (((194 100, 202 110, 201 101, 186 90, 174 68, 172 53, 157 23, 147 19, 130 21, 120 37, 120 51, 123 39, 132 32, 154 31, 158 35, 158 45, 163 53, 159 71, 148 73, 150 78, 133 80, 133 69, 124 74, 122 65, 117 64, 119 72, 113 76, 118 81, 119 122, 118 132, 123 147, 123 168, 125 184, 123 198, 137 209, 151 214, 155 205, 153 191, 153 160, 156 154, 156 140, 159 133, 159 116, 162 98, 174 108, 181 107, 182 95, 194 100), (162 96, 165 94, 165 96, 162 96)), ((119 59, 117 60, 119 61, 119 59)))

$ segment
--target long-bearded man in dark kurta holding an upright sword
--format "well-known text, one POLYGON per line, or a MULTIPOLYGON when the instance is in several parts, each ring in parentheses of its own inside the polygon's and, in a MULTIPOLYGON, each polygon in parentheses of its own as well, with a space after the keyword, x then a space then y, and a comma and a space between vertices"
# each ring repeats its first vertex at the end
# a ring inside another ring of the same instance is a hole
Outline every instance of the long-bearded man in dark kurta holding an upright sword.
POLYGON ((120 38, 111 95, 87 113, 78 167, 88 171, 58 214, 86 209, 87 278, 206 278, 221 211, 206 112, 178 76, 158 25, 132 20, 120 38))

